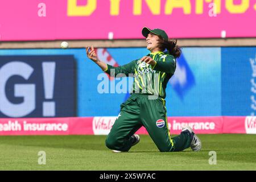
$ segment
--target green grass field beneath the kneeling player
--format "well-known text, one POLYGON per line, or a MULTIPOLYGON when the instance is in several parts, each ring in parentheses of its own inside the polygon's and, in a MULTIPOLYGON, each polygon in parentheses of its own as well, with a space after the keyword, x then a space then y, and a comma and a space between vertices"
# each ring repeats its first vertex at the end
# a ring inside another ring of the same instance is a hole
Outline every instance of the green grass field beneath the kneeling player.
POLYGON ((129 152, 113 153, 106 136, 0 137, 1 170, 256 170, 256 135, 198 135, 200 152, 159 152, 148 135, 129 152), (38 152, 46 164, 38 164, 38 152), (209 151, 217 164, 210 165, 209 151))

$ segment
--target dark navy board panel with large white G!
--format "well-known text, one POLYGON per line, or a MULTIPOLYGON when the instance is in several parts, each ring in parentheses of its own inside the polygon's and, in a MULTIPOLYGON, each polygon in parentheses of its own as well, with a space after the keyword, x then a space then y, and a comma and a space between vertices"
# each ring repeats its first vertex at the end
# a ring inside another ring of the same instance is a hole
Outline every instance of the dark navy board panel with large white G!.
POLYGON ((76 115, 72 55, 0 56, 0 117, 76 115))

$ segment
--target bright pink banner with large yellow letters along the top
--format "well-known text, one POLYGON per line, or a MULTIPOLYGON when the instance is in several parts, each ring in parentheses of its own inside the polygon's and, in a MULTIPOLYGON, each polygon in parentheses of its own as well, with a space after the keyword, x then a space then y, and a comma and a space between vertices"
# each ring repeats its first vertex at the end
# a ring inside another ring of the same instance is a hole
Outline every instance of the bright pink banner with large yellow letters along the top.
POLYGON ((0 40, 256 37, 256 0, 0 1, 0 40))

